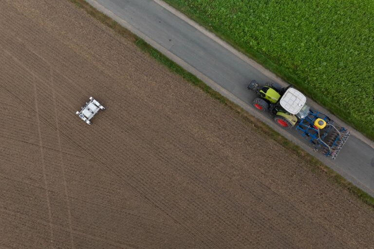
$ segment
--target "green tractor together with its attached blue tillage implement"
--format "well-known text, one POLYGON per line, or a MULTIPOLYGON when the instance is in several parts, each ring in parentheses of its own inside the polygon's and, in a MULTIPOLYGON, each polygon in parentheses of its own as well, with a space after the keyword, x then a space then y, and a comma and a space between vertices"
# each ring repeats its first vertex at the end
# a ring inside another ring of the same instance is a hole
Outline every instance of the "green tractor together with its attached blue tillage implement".
POLYGON ((310 109, 301 92, 291 86, 282 88, 272 82, 260 88, 255 80, 247 88, 258 96, 253 101, 253 107, 270 112, 276 124, 283 128, 296 126, 296 130, 313 146, 314 151, 321 149, 326 157, 333 160, 337 158, 351 133, 325 114, 310 109))

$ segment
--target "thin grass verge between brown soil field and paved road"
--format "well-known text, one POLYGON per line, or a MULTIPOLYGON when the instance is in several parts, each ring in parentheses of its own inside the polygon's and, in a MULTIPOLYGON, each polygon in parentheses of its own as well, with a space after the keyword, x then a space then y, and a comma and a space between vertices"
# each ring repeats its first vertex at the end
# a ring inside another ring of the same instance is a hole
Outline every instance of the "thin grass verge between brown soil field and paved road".
POLYGON ((135 43, 135 45, 139 47, 143 52, 148 53, 152 58, 154 58, 160 64, 166 66, 170 71, 177 73, 182 78, 184 78, 187 82, 189 82, 191 85, 198 87, 199 89, 206 92, 213 99, 219 101, 224 106, 232 109, 233 111, 238 113, 246 122, 248 122, 248 124, 255 126, 264 135, 269 136, 275 142, 278 142, 281 146, 295 153, 298 157, 302 158, 302 160, 307 162, 312 172, 314 172, 317 175, 327 176, 327 178, 331 182, 338 184, 343 189, 351 193, 353 196, 361 200, 363 203, 367 204, 371 208, 374 208, 374 197, 370 196, 369 194, 365 193, 361 189, 354 186, 351 182, 347 181, 345 178, 337 174, 335 171, 333 171, 332 169, 324 165, 321 161, 312 157, 310 154, 308 154, 298 145, 284 138, 281 134, 273 130, 270 126, 262 123, 260 120, 251 116, 242 107, 228 100, 226 97, 222 96, 219 92, 211 89, 203 81, 201 81, 196 76, 194 76, 190 72, 183 69, 181 66, 179 66, 175 62, 171 61, 168 57, 166 57, 164 54, 154 49, 147 42, 135 36, 129 30, 122 27, 120 24, 118 24, 114 20, 112 20, 112 18, 107 17, 106 15, 102 14, 101 12, 93 8, 90 4, 88 4, 85 0, 70 0, 70 1, 73 2, 77 7, 84 9, 93 18, 99 20, 101 23, 113 29, 115 32, 118 33, 118 35, 123 36, 125 38, 130 38, 135 43))

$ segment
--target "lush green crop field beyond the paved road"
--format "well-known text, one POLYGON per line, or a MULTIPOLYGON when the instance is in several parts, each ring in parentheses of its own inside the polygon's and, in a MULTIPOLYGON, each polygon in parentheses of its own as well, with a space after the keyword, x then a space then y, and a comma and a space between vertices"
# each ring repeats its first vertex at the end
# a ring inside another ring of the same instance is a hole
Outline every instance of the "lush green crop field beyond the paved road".
POLYGON ((374 139, 373 0, 166 0, 374 139))

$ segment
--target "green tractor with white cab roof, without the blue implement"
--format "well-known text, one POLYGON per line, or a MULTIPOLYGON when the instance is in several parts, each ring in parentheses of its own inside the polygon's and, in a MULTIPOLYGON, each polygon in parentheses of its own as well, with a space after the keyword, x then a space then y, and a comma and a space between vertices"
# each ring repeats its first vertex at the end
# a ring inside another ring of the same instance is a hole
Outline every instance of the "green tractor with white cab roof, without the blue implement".
POLYGON ((270 112, 276 124, 283 128, 293 127, 309 113, 306 97, 291 86, 282 88, 277 83, 268 82, 260 87, 256 80, 252 80, 247 88, 258 96, 252 103, 253 107, 270 112))

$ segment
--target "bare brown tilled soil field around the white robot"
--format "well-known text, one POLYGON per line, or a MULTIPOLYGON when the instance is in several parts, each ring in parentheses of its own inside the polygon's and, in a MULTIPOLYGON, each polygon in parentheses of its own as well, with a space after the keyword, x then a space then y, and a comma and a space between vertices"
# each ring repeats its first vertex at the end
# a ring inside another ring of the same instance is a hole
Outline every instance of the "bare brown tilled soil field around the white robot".
POLYGON ((372 209, 131 37, 65 0, 0 14, 1 249, 374 248, 372 209))

